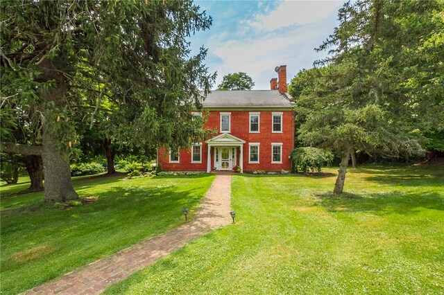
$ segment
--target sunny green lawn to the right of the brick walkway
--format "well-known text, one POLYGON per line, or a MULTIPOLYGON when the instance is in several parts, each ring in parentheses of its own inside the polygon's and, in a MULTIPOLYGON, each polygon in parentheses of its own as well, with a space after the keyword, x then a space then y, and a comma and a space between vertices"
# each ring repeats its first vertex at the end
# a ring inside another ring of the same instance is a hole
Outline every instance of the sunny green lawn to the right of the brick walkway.
MULTIPOLYGON (((336 172, 336 169, 327 169, 336 172)), ((442 294, 444 167, 334 176, 235 175, 237 223, 108 294, 442 294)))

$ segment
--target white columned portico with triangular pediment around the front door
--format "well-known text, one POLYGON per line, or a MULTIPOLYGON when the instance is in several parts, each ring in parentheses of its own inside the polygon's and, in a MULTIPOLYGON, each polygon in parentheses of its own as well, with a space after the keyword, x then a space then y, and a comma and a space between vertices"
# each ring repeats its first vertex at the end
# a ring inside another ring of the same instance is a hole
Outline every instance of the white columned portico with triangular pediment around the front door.
POLYGON ((239 147, 239 166, 244 171, 244 143, 246 141, 228 133, 219 134, 205 141, 208 145, 207 172, 216 170, 232 170, 237 165, 237 149, 239 147), (213 155, 213 159, 211 157, 213 155), (213 165, 212 165, 213 164, 213 165))

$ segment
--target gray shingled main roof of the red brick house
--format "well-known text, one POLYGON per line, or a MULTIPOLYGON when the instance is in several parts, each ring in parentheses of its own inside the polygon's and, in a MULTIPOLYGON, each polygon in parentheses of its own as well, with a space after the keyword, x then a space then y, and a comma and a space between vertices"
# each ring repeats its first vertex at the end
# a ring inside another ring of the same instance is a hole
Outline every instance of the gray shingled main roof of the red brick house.
POLYGON ((203 107, 284 107, 293 106, 293 98, 278 90, 216 90, 209 93, 203 107))

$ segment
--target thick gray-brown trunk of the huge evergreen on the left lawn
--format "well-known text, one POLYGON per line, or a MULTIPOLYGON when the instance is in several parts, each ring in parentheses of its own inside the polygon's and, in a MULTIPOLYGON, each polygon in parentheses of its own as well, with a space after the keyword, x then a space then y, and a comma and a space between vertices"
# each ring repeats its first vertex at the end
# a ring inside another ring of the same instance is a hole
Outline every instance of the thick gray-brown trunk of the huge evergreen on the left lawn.
MULTIPOLYGON (((42 98, 49 102, 48 105, 54 105, 56 111, 61 111, 67 106, 65 95, 67 91, 67 82, 65 76, 55 64, 63 64, 60 60, 53 63, 49 57, 42 60, 40 67, 42 82, 54 80, 56 87, 42 93, 42 98), (46 81, 45 81, 46 80, 46 81)), ((78 199, 78 195, 72 186, 71 167, 69 166, 69 152, 67 148, 58 145, 59 140, 56 136, 57 124, 54 113, 47 111, 43 124, 43 145, 42 160, 44 166, 44 202, 65 202, 70 199, 78 199), (52 114, 51 114, 52 113, 52 114)), ((67 144, 67 143, 66 143, 67 144)))

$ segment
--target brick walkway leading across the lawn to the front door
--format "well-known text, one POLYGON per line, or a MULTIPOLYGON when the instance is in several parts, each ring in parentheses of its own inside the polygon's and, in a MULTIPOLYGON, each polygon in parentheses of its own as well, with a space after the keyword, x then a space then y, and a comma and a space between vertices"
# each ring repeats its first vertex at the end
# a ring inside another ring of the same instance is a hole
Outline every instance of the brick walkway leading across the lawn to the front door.
POLYGON ((110 258, 92 262, 59 279, 35 287, 26 294, 98 294, 113 283, 184 247, 200 235, 229 224, 230 192, 231 176, 217 175, 193 221, 124 249, 110 258))

